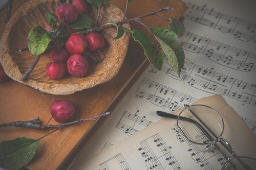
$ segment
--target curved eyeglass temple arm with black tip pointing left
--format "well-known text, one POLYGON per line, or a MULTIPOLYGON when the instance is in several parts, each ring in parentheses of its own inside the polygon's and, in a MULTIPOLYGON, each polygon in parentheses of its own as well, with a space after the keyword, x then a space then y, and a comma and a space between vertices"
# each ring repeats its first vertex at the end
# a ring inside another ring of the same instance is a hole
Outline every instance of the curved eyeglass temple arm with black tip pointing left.
MULTIPOLYGON (((171 114, 171 113, 166 113, 166 112, 162 112, 162 111, 157 111, 157 115, 159 116, 162 116, 162 117, 170 117, 170 118, 178 118, 177 115, 175 114, 171 114)), ((212 138, 210 137, 210 135, 205 131, 205 129, 199 124, 197 123, 197 121, 191 119, 191 118, 187 118, 187 117, 183 117, 183 116, 180 116, 179 117, 181 120, 185 120, 187 122, 190 122, 190 123, 193 123, 195 124, 201 131, 204 132, 204 134, 206 135, 206 137, 209 139, 209 140, 212 140, 212 138)))

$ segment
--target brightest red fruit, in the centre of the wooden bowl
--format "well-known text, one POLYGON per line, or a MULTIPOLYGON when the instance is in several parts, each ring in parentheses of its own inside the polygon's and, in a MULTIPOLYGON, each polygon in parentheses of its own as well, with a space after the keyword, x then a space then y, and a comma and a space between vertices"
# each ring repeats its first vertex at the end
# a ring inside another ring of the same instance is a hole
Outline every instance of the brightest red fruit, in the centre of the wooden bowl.
POLYGON ((87 48, 86 37, 82 34, 72 34, 66 42, 66 48, 70 54, 82 54, 87 48))

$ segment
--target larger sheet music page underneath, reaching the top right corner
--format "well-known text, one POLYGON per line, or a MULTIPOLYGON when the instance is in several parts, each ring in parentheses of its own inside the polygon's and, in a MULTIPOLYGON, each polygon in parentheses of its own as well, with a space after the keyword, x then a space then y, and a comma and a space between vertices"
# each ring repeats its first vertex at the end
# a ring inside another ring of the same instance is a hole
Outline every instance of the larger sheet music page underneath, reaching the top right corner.
POLYGON ((221 94, 256 133, 256 1, 186 2, 180 77, 167 62, 149 66, 82 148, 75 164, 204 96, 221 94))

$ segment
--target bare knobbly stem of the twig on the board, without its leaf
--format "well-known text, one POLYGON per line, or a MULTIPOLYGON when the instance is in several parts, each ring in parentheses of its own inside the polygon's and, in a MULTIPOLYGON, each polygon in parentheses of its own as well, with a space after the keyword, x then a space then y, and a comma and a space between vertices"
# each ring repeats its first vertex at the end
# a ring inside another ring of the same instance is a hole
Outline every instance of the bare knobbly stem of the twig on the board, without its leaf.
POLYGON ((110 114, 110 112, 105 112, 105 113, 100 114, 100 115, 95 116, 95 117, 86 118, 86 119, 79 119, 79 120, 76 120, 76 121, 73 121, 73 122, 59 124, 59 125, 41 125, 41 120, 39 119, 39 117, 37 117, 37 118, 35 118, 33 120, 29 120, 29 121, 18 121, 18 122, 0 124, 0 128, 1 127, 6 127, 6 126, 14 126, 14 127, 27 127, 27 128, 42 129, 42 130, 54 129, 54 128, 58 129, 60 127, 75 125, 75 124, 80 123, 80 122, 87 122, 87 121, 96 120, 99 117, 107 116, 109 114, 110 114))

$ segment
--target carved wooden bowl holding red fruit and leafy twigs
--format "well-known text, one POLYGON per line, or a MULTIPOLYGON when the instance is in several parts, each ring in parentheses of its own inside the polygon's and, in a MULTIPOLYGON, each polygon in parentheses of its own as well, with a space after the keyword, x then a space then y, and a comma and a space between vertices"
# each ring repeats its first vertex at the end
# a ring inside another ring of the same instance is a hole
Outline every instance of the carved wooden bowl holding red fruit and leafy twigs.
MULTIPOLYGON (((46 8, 54 12, 59 5, 57 0, 45 0, 46 8)), ((91 9, 91 17, 95 18, 96 9, 91 9)), ((123 18, 123 12, 114 5, 102 7, 98 19, 99 25, 107 23, 110 19, 114 21, 123 18)), ((102 51, 103 61, 98 63, 90 74, 83 78, 69 76, 53 80, 46 75, 45 67, 51 62, 49 52, 41 55, 39 62, 32 71, 27 81, 20 81, 22 74, 28 69, 34 57, 29 51, 18 53, 20 48, 27 46, 27 35, 31 28, 47 26, 47 16, 44 9, 40 7, 38 0, 32 0, 21 6, 8 22, 0 42, 0 62, 6 74, 15 81, 30 86, 42 92, 50 94, 72 94, 75 91, 92 88, 98 84, 110 81, 120 69, 129 44, 130 33, 125 31, 124 35, 113 40, 116 29, 110 28, 102 32, 106 40, 106 48, 102 51)), ((123 27, 130 29, 125 23, 123 27)))

